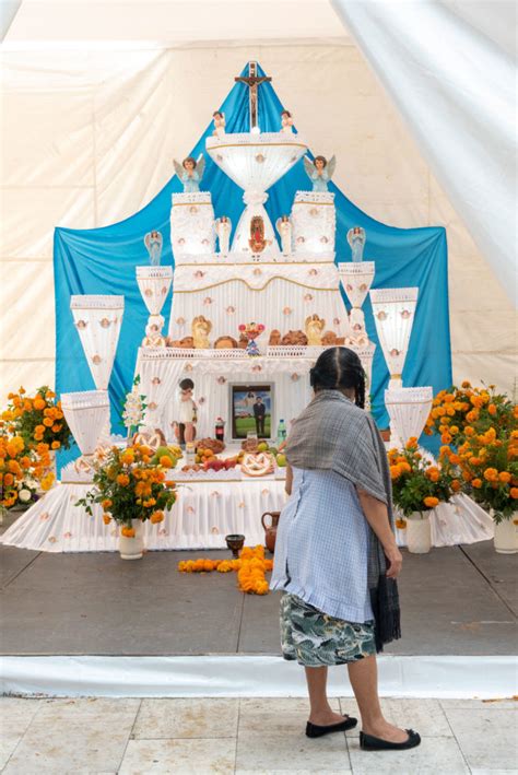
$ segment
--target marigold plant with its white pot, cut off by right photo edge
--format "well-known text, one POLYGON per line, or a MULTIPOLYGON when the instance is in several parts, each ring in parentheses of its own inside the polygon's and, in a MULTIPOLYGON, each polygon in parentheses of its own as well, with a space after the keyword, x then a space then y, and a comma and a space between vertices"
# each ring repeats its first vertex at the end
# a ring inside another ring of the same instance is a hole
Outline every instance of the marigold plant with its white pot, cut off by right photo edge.
POLYGON ((495 551, 518 552, 518 428, 491 426, 473 433, 458 448, 470 495, 495 522, 495 551))

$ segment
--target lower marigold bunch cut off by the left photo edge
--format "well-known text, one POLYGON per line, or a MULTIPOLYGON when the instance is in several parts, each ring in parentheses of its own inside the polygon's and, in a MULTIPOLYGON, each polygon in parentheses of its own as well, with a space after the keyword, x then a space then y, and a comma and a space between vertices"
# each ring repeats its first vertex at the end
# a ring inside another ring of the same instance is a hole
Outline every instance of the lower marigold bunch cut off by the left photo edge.
POLYGON ((36 485, 49 490, 54 482, 50 455, 46 444, 28 449, 21 436, 0 435, 0 506, 12 508, 30 503, 36 485))

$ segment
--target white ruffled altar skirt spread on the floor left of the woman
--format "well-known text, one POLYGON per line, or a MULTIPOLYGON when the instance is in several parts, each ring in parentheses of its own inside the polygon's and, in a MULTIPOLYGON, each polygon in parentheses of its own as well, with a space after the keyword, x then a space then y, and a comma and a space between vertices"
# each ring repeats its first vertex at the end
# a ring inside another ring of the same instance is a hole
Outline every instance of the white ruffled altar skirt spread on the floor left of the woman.
MULTIPOLYGON (((225 536, 243 533, 247 545, 264 543, 261 515, 280 512, 284 481, 197 482, 179 485, 178 501, 163 522, 144 524, 149 550, 223 549, 225 536)), ((118 528, 105 525, 103 509, 94 516, 74 504, 91 484, 58 484, 23 514, 0 542, 45 552, 113 552, 118 550, 118 528)))

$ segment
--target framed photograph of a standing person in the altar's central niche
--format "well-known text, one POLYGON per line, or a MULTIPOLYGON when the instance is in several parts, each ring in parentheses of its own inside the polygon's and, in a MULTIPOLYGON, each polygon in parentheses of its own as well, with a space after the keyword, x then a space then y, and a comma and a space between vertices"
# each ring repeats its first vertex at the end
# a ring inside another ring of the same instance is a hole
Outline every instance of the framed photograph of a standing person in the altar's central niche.
POLYGON ((243 441, 249 433, 271 438, 273 384, 231 385, 232 437, 243 441))

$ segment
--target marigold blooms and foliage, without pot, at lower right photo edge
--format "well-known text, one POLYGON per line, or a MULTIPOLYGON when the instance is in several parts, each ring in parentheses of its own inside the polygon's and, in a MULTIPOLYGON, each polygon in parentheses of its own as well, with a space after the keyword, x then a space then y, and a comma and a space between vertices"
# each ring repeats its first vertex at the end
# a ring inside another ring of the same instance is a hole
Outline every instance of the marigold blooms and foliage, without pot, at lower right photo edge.
POLYGON ((457 453, 443 447, 440 454, 459 466, 464 488, 484 508, 493 509, 496 524, 518 509, 518 427, 506 433, 491 426, 467 437, 457 453))

